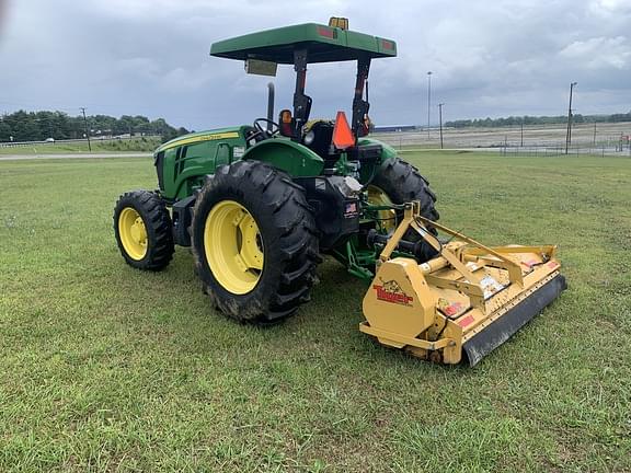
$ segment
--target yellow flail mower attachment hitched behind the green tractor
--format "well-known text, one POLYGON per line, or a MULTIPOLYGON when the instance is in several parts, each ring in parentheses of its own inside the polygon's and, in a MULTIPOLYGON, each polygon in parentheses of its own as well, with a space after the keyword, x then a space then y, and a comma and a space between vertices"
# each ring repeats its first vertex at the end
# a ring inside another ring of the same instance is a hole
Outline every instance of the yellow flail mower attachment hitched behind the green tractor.
POLYGON ((382 241, 359 330, 435 362, 474 366, 566 289, 557 246, 485 246, 424 218, 417 201, 405 205, 401 224, 382 241), (393 257, 411 230, 436 257, 422 264, 393 257))

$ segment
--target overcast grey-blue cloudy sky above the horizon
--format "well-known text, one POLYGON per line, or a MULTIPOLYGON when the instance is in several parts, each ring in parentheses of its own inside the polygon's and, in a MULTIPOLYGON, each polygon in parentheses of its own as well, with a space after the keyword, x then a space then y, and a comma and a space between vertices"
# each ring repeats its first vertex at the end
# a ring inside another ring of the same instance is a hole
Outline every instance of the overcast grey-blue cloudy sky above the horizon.
MULTIPOLYGON (((3 0, 0 0, 0 3, 3 0)), ((0 10, 2 10, 0 8, 0 10)), ((370 71, 378 125, 631 109, 631 0, 4 0, 0 113, 147 115, 204 129, 265 115, 268 78, 211 58, 210 44, 256 30, 349 19, 392 38, 399 57, 370 71)), ((279 67, 277 109, 292 71, 279 67)), ((349 109, 352 64, 313 65, 313 117, 349 109)))

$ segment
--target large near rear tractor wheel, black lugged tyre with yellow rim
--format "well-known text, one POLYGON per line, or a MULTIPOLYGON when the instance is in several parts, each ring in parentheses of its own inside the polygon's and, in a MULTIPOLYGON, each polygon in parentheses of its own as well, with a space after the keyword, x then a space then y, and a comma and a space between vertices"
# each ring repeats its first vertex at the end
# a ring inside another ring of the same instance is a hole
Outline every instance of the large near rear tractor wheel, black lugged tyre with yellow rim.
POLYGON ((197 196, 192 236, 204 290, 225 314, 274 323, 309 300, 316 222, 286 173, 259 161, 218 168, 197 196))

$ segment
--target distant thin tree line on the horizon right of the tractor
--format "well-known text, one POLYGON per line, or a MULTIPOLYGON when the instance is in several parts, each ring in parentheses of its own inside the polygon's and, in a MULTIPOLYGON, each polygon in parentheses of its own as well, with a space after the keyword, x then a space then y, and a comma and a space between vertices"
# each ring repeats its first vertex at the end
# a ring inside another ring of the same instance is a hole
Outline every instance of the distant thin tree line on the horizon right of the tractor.
MULTIPOLYGON (((572 115, 572 122, 575 124, 583 123, 620 123, 631 122, 631 112, 626 114, 612 115, 572 115)), ((474 118, 446 122, 445 126, 454 128, 466 127, 502 127, 516 125, 555 125, 567 123, 567 115, 558 116, 509 116, 507 118, 474 118)))

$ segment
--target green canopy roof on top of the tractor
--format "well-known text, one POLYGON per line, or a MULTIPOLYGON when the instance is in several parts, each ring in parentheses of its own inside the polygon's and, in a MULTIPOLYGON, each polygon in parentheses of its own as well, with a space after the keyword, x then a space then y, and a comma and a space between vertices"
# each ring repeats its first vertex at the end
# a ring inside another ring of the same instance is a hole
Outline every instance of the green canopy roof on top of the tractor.
POLYGON ((307 49, 308 62, 336 62, 397 56, 397 43, 318 23, 305 23, 237 36, 213 44, 210 55, 294 64, 294 51, 307 49))

